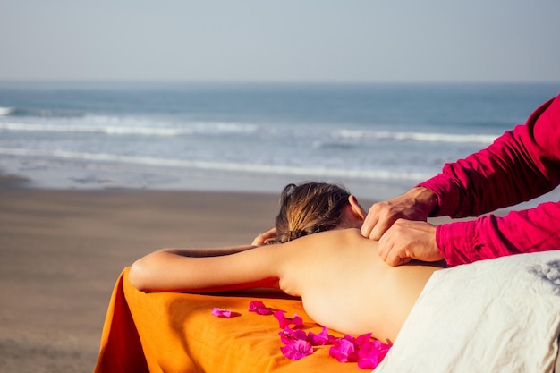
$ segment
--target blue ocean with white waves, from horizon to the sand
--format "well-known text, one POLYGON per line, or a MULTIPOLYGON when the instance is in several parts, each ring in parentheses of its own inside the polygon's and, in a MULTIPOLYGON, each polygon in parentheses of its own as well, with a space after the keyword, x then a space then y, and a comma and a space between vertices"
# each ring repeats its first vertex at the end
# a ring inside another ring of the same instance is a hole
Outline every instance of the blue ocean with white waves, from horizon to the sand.
POLYGON ((550 84, 0 82, 0 173, 30 186, 387 198, 487 147, 550 84))

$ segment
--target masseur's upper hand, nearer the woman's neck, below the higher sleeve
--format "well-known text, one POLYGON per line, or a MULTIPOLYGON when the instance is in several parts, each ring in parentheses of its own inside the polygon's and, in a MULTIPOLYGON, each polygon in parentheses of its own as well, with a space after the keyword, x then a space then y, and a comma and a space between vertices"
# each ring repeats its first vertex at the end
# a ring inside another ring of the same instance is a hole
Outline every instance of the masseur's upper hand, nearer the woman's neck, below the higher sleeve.
POLYGON ((428 220, 428 214, 437 206, 437 196, 424 187, 412 188, 394 199, 375 203, 361 225, 361 235, 379 240, 397 219, 428 220))

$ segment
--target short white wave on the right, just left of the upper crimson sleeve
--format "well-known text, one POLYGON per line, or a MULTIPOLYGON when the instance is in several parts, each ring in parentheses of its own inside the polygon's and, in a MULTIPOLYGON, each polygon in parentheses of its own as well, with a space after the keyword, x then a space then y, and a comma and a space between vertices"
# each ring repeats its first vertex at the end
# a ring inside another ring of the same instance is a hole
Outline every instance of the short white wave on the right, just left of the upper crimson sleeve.
POLYGON ((347 139, 374 140, 411 140, 420 142, 472 142, 491 144, 498 135, 476 135, 463 133, 426 133, 426 132, 392 132, 392 131, 334 131, 335 136, 347 139))

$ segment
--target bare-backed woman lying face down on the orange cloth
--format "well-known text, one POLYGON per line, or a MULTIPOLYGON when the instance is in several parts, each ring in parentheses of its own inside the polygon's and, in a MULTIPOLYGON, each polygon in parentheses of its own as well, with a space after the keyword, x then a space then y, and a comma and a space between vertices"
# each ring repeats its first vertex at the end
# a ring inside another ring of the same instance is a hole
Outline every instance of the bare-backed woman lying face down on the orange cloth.
POLYGON ((285 243, 206 250, 204 255, 212 255, 206 257, 198 249, 159 250, 132 265, 130 281, 145 292, 275 288, 301 297, 310 318, 320 325, 394 342, 440 267, 388 266, 378 257, 378 243, 361 235, 365 213, 357 199, 329 185, 284 189, 275 242, 285 243))

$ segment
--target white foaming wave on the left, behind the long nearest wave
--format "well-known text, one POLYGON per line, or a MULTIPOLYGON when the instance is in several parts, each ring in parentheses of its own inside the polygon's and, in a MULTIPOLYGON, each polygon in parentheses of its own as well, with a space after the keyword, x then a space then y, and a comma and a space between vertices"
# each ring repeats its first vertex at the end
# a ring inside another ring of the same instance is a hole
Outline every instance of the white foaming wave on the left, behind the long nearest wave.
MULTIPOLYGON (((107 123, 107 120, 98 121, 107 123)), ((138 135, 138 136, 188 136, 193 134, 232 134, 255 131, 256 127, 237 123, 195 123, 189 127, 154 127, 154 126, 123 126, 115 121, 115 125, 82 125, 53 123, 0 123, 0 131, 30 132, 65 132, 65 133, 98 133, 106 135, 138 135)), ((132 121, 130 121, 132 122, 132 121)))

